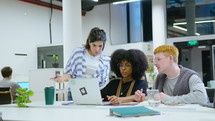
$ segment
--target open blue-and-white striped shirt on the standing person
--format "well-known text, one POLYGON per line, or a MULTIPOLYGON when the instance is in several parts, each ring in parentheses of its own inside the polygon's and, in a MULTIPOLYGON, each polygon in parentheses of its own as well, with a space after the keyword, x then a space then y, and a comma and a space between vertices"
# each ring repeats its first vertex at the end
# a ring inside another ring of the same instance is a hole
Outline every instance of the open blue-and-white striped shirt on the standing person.
MULTIPOLYGON (((72 75, 73 78, 84 78, 86 75, 86 53, 85 47, 76 48, 69 58, 64 73, 72 75)), ((110 72, 110 57, 100 54, 100 63, 93 78, 99 78, 99 86, 102 87, 107 83, 110 72)))

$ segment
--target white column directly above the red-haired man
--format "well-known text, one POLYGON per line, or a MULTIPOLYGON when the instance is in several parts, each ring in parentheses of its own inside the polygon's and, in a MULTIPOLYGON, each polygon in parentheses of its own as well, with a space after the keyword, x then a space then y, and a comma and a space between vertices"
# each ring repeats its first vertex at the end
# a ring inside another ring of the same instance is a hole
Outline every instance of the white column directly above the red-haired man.
POLYGON ((166 0, 152 0, 153 51, 166 41, 166 0))

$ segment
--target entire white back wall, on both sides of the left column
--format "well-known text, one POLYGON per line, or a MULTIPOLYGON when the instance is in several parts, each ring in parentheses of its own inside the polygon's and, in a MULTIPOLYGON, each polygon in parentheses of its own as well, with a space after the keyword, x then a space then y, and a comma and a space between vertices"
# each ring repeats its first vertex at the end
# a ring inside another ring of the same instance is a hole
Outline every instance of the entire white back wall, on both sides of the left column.
MULTIPOLYGON (((114 13, 114 11, 112 11, 114 13)), ((38 6, 17 0, 0 0, 0 68, 11 66, 15 81, 28 81, 29 71, 37 69, 37 47, 50 45, 49 17, 50 8, 38 6), (27 56, 15 56, 15 53, 27 54, 27 56)), ((147 49, 152 43, 130 43, 111 45, 110 26, 114 30, 115 25, 110 25, 109 5, 95 6, 92 11, 82 17, 82 43, 85 44, 89 31, 93 27, 100 27, 107 34, 107 42, 104 53, 111 53, 119 48, 140 49, 148 55, 152 50, 147 49)), ((112 20, 120 23, 120 19, 112 20)), ((117 28, 120 26, 117 26, 117 28)), ((62 44, 62 11, 53 10, 52 17, 52 41, 54 45, 62 44)), ((125 33, 117 33, 114 38, 126 37, 125 33), (118 36, 117 36, 118 35, 118 36)), ((113 39, 117 41, 119 39, 113 39)), ((77 45, 80 46, 80 45, 77 45)), ((152 47, 151 47, 152 49, 152 47)), ((2 77, 0 77, 2 78, 2 77)))

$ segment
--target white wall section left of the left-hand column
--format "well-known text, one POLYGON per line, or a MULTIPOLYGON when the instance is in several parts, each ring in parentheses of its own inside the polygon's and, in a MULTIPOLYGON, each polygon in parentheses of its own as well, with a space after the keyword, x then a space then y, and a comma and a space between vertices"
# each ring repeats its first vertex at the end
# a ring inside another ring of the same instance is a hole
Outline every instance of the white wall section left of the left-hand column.
MULTIPOLYGON (((0 16, 0 68, 11 66, 15 81, 28 81, 29 70, 37 67, 36 47, 50 43, 50 9, 18 0, 0 0, 0 16)), ((52 20, 53 43, 60 43, 62 12, 53 10, 52 20)))

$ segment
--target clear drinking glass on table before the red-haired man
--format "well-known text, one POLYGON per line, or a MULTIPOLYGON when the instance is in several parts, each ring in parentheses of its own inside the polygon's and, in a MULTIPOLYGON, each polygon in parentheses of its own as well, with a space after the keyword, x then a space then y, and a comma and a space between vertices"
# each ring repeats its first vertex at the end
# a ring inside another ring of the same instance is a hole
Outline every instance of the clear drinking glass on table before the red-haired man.
POLYGON ((159 106, 161 103, 159 90, 157 90, 157 89, 148 90, 147 99, 148 99, 148 103, 150 106, 152 106, 152 107, 159 106))

